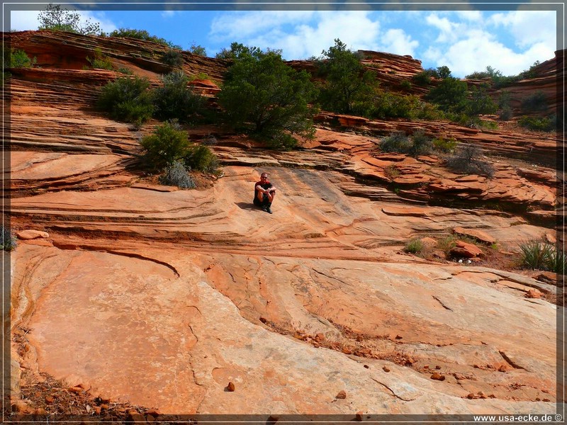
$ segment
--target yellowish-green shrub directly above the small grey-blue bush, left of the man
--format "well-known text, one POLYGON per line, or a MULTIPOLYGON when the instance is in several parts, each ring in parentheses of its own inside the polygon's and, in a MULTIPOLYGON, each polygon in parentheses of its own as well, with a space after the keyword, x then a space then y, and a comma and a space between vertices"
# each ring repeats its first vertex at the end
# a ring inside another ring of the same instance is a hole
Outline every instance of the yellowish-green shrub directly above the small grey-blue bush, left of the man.
POLYGON ((151 135, 142 138, 140 145, 145 149, 144 160, 150 169, 164 169, 189 154, 191 143, 187 133, 175 122, 157 126, 151 135))

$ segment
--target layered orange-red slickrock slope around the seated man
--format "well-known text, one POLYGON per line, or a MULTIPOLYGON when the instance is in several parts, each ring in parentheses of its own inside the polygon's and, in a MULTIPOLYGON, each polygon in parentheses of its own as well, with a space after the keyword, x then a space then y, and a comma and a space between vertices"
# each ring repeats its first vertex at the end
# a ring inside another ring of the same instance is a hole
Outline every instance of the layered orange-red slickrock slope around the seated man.
MULTIPOLYGON (((4 254, 14 410, 55 412, 41 392, 44 411, 19 400, 47 374, 152 418, 555 412, 561 282, 509 266, 518 242, 556 237, 554 140, 322 113, 304 149, 273 152, 208 125, 188 132, 196 142, 215 135, 223 176, 178 190, 135 166, 156 122, 138 130, 92 108, 117 76, 81 69, 98 40, 4 36, 35 46, 43 67, 14 69, 5 99, 4 213, 18 232, 47 232, 21 234, 4 254), (376 153, 400 128, 482 145, 498 154, 494 178, 376 153), (507 159, 515 154, 534 162, 507 159), (279 191, 273 215, 251 203, 261 171, 279 191), (414 237, 434 244, 452 233, 493 246, 471 259, 439 246, 433 260, 403 251, 414 237)), ((101 43, 121 66, 159 78, 151 43, 101 43)), ((185 61, 186 72, 220 81, 220 61, 185 61)), ((208 96, 213 85, 201 82, 208 96)))

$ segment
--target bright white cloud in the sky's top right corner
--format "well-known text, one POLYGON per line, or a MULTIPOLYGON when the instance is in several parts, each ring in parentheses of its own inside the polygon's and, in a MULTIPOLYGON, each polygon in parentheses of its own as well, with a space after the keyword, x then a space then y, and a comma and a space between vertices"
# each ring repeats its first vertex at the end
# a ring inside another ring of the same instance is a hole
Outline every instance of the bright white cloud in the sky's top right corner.
POLYGON ((554 11, 514 11, 496 13, 488 19, 495 28, 510 31, 518 47, 528 48, 539 42, 556 50, 556 13, 554 11))

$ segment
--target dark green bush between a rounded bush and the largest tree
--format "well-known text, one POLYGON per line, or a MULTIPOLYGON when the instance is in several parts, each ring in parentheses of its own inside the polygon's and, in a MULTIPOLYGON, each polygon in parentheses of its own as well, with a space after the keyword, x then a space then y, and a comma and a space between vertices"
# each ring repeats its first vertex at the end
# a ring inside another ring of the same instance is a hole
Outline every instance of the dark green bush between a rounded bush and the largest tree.
POLYGON ((183 71, 170 72, 161 79, 162 86, 157 87, 153 93, 156 118, 177 119, 186 123, 203 109, 203 98, 189 89, 189 78, 183 71))

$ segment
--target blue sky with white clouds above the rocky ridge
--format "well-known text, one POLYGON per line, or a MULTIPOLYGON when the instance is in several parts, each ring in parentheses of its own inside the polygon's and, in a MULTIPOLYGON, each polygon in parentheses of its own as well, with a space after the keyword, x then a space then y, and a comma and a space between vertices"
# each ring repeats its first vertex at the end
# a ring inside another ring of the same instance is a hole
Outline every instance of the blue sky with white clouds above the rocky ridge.
MULTIPOLYGON (((558 23, 555 11, 511 10, 390 10, 390 11, 189 11, 171 10, 172 2, 155 11, 85 11, 84 18, 97 21, 106 32, 118 28, 147 30, 189 49, 192 44, 214 56, 231 42, 281 49, 286 60, 318 56, 340 38, 352 50, 376 50, 411 55, 424 69, 447 65, 456 77, 464 77, 487 66, 505 75, 515 75, 534 62, 554 57, 558 23)), ((92 5, 91 5, 92 6, 92 5)), ((407 8, 398 4, 394 8, 407 8)), ((555 5, 557 6, 557 5, 555 5)), ((38 28, 38 11, 17 11, 13 6, 12 30, 38 28)), ((38 9, 43 6, 35 6, 38 9)), ((72 4, 62 4, 72 9, 72 4)), ((137 6, 143 7, 143 6, 137 6)), ((313 9, 314 6, 309 8, 313 9)), ((360 6, 357 6, 360 7, 360 6)), ((434 8, 434 5, 432 6, 434 8)), ((455 6, 463 9, 464 6, 455 6)), ((496 6, 490 6, 492 8, 496 6)), ((549 6, 547 6, 549 7, 549 6)))

